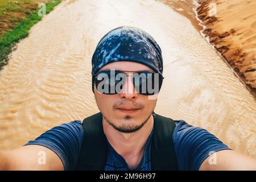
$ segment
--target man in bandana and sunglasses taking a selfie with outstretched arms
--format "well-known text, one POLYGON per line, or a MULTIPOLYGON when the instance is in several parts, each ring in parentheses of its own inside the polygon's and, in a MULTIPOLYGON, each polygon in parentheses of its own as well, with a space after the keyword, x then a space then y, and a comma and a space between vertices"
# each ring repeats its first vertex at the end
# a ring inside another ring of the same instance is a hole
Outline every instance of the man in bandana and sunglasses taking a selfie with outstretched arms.
POLYGON ((135 27, 108 32, 92 57, 100 113, 0 152, 0 169, 255 170, 255 159, 208 131, 154 113, 162 73, 162 52, 150 35, 135 27))

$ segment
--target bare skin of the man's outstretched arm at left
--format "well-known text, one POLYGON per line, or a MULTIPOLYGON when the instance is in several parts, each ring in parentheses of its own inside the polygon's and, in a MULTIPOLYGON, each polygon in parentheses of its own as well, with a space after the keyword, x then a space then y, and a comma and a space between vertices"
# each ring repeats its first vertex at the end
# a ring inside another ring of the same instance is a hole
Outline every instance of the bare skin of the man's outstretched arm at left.
POLYGON ((0 170, 63 170, 59 156, 46 147, 30 145, 0 152, 0 170))

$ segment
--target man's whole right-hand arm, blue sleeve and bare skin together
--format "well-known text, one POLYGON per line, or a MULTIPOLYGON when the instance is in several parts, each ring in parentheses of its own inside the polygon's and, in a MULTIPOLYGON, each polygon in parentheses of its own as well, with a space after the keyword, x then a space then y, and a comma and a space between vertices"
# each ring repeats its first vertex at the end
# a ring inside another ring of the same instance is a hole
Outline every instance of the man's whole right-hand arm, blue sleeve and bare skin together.
POLYGON ((173 135, 180 170, 256 170, 256 160, 230 150, 213 134, 200 127, 176 121, 173 135))

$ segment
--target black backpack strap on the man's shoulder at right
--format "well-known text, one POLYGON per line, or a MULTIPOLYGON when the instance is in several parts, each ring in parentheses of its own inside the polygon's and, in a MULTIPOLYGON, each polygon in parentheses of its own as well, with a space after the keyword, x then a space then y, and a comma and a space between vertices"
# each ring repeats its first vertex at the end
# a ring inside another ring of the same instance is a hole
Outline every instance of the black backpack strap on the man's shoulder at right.
POLYGON ((154 133, 151 143, 151 169, 177 170, 176 155, 172 134, 174 133, 175 122, 155 114, 154 133))

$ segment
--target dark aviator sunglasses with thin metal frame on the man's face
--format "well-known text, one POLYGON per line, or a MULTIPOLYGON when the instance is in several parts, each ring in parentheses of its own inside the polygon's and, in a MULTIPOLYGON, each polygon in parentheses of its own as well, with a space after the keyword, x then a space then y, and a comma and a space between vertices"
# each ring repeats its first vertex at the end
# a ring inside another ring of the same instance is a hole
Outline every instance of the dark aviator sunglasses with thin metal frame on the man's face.
POLYGON ((94 76, 96 89, 102 94, 121 93, 126 84, 126 77, 132 76, 136 92, 144 96, 159 93, 164 78, 162 74, 155 72, 117 71, 114 69, 97 72, 94 76), (126 75, 125 72, 129 72, 129 75, 126 75))

